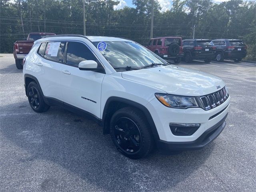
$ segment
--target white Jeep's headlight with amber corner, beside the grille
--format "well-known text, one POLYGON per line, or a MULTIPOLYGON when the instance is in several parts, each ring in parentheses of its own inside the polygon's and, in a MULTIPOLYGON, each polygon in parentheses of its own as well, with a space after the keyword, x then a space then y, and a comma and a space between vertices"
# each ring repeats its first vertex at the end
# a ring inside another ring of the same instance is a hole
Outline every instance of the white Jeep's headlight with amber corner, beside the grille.
POLYGON ((156 93, 155 96, 163 105, 167 107, 182 109, 198 107, 196 98, 194 97, 169 95, 163 93, 156 93))

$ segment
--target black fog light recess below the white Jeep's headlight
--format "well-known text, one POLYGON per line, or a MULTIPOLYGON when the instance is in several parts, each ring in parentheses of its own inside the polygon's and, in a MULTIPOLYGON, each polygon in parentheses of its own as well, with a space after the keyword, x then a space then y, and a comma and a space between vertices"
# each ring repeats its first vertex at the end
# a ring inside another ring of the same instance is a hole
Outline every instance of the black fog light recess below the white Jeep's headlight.
POLYGON ((172 134, 176 136, 192 135, 200 126, 200 123, 170 123, 172 134))

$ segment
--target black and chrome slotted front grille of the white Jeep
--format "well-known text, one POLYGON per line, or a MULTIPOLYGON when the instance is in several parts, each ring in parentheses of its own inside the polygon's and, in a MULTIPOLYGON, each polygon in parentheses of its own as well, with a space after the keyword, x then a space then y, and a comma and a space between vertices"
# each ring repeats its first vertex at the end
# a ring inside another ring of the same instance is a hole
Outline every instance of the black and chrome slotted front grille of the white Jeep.
POLYGON ((204 95, 199 97, 202 102, 202 106, 205 110, 214 108, 223 102, 225 102, 229 97, 229 94, 226 90, 226 86, 219 91, 216 91, 212 94, 204 95))

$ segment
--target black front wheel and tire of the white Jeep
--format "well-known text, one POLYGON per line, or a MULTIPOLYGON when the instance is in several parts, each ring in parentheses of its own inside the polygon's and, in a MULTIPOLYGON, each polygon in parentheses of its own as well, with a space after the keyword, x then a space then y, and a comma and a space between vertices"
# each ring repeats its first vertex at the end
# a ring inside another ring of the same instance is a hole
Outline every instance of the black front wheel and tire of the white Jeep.
POLYGON ((126 157, 139 159, 153 148, 153 137, 140 110, 125 107, 117 110, 110 120, 110 135, 116 148, 126 157))

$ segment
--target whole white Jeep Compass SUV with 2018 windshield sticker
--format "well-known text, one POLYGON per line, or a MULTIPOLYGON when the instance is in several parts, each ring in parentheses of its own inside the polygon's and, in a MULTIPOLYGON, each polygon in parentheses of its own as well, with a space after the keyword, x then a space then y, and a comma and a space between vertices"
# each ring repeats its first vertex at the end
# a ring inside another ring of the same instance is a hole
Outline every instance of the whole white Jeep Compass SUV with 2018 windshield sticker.
POLYGON ((170 65, 132 40, 50 36, 23 63, 35 112, 58 105, 90 116, 129 158, 154 145, 164 153, 203 148, 226 125, 230 96, 220 78, 170 65))

